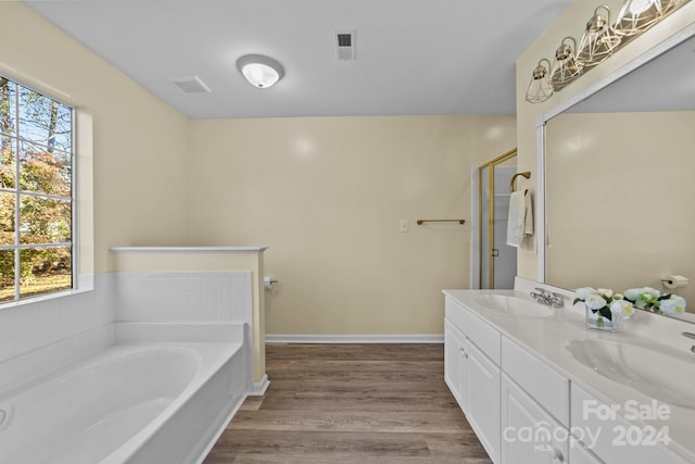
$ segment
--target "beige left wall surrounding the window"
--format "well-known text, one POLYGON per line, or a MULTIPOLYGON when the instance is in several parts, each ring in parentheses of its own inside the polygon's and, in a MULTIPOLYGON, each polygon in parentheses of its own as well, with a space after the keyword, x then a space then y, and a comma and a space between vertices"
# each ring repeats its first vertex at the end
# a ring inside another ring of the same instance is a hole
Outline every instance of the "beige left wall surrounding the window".
POLYGON ((0 70, 92 117, 96 272, 110 247, 186 243, 188 120, 24 4, 0 17, 0 70))

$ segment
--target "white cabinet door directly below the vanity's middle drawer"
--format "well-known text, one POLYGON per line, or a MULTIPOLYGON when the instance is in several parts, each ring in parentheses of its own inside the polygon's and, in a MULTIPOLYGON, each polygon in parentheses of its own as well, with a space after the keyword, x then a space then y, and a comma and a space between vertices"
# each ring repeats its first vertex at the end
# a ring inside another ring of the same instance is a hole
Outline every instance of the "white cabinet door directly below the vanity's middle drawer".
POLYGON ((567 461, 569 431, 502 374, 502 464, 567 461))

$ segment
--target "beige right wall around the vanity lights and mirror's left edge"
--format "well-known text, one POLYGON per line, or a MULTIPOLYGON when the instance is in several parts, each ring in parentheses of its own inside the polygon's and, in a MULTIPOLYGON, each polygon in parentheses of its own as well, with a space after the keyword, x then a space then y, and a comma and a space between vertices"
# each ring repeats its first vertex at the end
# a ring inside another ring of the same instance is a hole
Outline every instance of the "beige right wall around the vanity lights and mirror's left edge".
MULTIPOLYGON (((617 12, 622 1, 606 1, 614 12, 617 12)), ((531 72, 541 58, 552 59, 560 40, 565 36, 579 39, 583 34, 586 21, 591 17, 598 2, 576 0, 563 15, 519 58, 517 61, 517 143, 519 171, 536 172, 536 124, 544 113, 551 112, 556 105, 572 99, 578 93, 592 87, 610 73, 639 58, 654 46, 673 36, 695 22, 695 2, 683 5, 679 11, 667 17, 650 30, 628 43, 615 55, 578 78, 548 101, 531 104, 525 101, 525 95, 531 72)), ((538 178, 538 177, 536 177, 538 178)), ((630 268, 627 265, 621 272, 630 268)), ((519 250, 518 274, 530 279, 538 279, 536 243, 530 241, 519 250)))

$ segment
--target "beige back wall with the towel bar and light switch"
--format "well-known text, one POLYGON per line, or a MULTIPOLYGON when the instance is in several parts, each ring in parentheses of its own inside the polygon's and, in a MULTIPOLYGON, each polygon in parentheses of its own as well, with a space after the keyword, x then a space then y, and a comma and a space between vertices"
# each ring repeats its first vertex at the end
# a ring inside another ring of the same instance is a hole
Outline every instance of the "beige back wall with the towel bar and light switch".
POLYGON ((442 333, 441 289, 469 281, 470 170, 514 148, 514 117, 191 124, 192 242, 270 247, 268 334, 442 333))

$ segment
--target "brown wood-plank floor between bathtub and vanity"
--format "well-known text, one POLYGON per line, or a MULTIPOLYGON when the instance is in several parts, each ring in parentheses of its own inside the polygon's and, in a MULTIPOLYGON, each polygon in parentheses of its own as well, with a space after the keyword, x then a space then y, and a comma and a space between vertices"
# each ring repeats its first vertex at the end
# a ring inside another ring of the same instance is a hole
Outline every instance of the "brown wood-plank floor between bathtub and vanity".
POLYGON ((491 463, 441 344, 269 343, 266 371, 204 464, 491 463))

